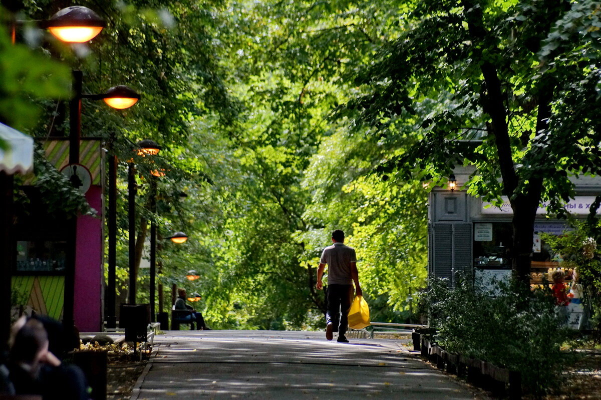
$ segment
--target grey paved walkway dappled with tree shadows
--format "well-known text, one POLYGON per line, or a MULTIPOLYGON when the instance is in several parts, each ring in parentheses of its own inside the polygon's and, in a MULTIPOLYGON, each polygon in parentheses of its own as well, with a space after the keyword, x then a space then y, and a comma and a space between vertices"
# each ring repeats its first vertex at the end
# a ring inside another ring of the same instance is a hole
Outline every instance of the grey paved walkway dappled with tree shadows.
POLYGON ((322 332, 171 331, 136 383, 142 399, 483 399, 397 340, 322 332))

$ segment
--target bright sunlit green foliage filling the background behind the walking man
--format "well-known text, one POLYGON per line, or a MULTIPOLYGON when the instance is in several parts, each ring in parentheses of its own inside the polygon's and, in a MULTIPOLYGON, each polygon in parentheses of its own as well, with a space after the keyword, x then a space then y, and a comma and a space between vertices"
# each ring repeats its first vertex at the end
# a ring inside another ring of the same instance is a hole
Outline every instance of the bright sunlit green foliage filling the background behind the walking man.
MULTIPOLYGON (((129 278, 126 170, 133 160, 138 240, 156 222, 159 281, 166 291, 175 285, 201 293, 197 307, 212 326, 323 325, 316 258, 333 227, 347 230, 358 249, 374 315, 406 317, 426 275, 426 193, 400 176, 371 176, 394 146, 382 145, 370 131, 349 134, 349 121, 331 118, 357 93, 350 77, 398 37, 398 7, 406 6, 246 0, 82 5, 107 20, 99 37, 76 48, 51 38, 44 45, 82 70, 84 92, 126 84, 142 95, 120 112, 82 102, 84 136, 102 137, 120 160, 121 298, 129 278), (133 155, 132 144, 140 139, 156 140, 162 151, 133 155), (157 184, 156 212, 150 210, 152 170, 165 173, 157 184), (182 191, 188 197, 180 201, 182 191), (174 231, 190 239, 184 245, 161 239, 174 231), (201 278, 187 281, 189 269, 201 278)), ((25 7, 29 18, 47 19, 53 2, 32 0, 25 7)), ((65 101, 38 104, 45 114, 35 134, 66 136, 65 101)), ((42 183, 49 185, 53 175, 44 174, 42 183)), ((148 299, 148 280, 141 269, 140 302, 148 299)), ((163 309, 171 308, 170 301, 166 295, 163 309)))

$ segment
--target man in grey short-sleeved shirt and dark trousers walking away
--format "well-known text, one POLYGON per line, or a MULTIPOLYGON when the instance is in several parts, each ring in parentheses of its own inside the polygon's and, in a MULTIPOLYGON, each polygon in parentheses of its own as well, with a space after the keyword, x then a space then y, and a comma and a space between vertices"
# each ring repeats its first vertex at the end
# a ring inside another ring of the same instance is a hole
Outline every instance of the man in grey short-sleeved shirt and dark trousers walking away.
POLYGON ((359 272, 355 249, 344 245, 344 232, 337 229, 332 232, 333 245, 323 249, 322 258, 317 268, 316 288, 322 290, 323 269, 328 264, 328 287, 326 300, 326 339, 332 340, 332 332, 338 329, 338 342, 348 343, 346 329, 349 326, 349 310, 353 302, 353 282, 355 294, 362 296, 359 286, 359 272))

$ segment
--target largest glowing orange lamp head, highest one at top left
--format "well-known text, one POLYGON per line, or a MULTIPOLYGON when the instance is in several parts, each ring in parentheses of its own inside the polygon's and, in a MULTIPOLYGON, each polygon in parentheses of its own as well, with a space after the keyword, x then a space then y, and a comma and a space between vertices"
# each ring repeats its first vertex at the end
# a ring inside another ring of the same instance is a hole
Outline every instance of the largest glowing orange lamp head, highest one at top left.
POLYGON ((45 25, 61 41, 85 43, 95 38, 106 23, 90 8, 75 5, 58 11, 45 25))

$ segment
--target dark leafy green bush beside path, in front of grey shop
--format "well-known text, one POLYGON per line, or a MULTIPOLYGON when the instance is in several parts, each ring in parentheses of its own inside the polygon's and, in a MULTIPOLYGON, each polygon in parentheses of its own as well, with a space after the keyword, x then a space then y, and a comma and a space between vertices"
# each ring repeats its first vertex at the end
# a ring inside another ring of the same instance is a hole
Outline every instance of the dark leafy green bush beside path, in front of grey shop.
POLYGON ((559 384, 570 362, 560 349, 569 331, 561 327, 548 292, 520 294, 504 282, 482 285, 472 279, 460 279, 454 288, 446 279, 429 283, 423 304, 445 350, 521 372, 531 393, 559 384))

